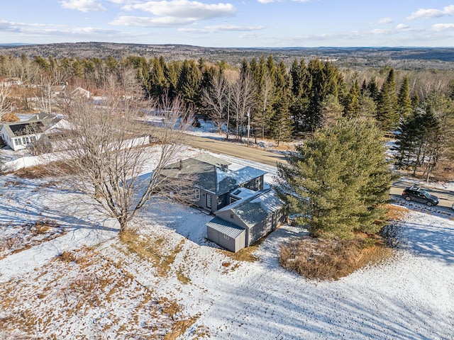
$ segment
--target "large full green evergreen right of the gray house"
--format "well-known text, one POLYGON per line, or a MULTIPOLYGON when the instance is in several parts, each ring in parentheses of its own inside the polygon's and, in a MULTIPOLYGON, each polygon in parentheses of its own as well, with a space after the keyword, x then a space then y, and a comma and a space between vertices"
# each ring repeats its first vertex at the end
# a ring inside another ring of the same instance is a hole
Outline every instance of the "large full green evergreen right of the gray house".
POLYGON ((278 164, 277 191, 316 237, 353 237, 382 227, 392 170, 382 132, 370 120, 341 120, 316 131, 278 164))

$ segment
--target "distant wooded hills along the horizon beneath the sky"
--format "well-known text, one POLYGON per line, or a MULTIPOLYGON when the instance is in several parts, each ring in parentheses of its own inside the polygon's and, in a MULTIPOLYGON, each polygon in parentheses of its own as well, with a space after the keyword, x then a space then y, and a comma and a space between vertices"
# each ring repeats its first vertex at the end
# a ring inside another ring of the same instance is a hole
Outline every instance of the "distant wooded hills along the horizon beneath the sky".
POLYGON ((284 60, 290 64, 295 58, 311 60, 314 58, 333 60, 341 67, 361 69, 389 65, 397 69, 453 69, 454 48, 437 47, 257 47, 257 48, 220 48, 189 45, 143 45, 116 44, 111 42, 75 42, 47 45, 0 45, 0 55, 19 57, 70 57, 85 58, 112 57, 129 55, 165 57, 165 60, 203 58, 210 62, 225 60, 239 64, 243 58, 267 57, 284 60))

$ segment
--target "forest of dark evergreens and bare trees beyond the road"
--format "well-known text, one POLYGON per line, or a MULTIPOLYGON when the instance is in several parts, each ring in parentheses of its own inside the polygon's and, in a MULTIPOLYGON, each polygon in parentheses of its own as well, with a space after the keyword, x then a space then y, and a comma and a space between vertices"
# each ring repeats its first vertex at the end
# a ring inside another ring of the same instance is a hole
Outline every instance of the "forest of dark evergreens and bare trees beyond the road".
POLYGON ((341 118, 372 120, 395 140, 397 167, 428 179, 437 171, 453 170, 452 74, 388 65, 349 69, 322 59, 286 63, 273 55, 237 64, 203 58, 166 61, 164 56, 0 55, 0 80, 16 78, 23 84, 0 87, 0 111, 35 109, 30 98, 43 97, 43 89, 57 84, 81 86, 96 96, 106 80, 115 79, 119 92, 138 100, 179 96, 199 116, 213 120, 226 139, 231 135, 238 141, 248 128, 253 138, 270 138, 279 145, 302 140, 341 118))

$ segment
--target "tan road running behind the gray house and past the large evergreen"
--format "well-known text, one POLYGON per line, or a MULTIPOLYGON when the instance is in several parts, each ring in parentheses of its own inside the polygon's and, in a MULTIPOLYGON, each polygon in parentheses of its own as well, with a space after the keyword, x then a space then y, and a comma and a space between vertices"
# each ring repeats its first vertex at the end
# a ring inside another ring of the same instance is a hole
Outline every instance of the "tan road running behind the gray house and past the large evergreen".
MULTIPOLYGON (((285 157, 282 154, 276 154, 274 152, 264 151, 253 147, 246 147, 232 142, 225 142, 223 140, 214 140, 207 137, 191 136, 186 142, 187 144, 192 145, 193 147, 198 147, 199 149, 206 149, 218 154, 228 154, 230 156, 248 159, 253 162, 267 164, 270 166, 276 166, 277 162, 285 162, 285 157)), ((394 182, 389 193, 391 195, 400 196, 402 195, 404 188, 411 186, 411 184, 412 183, 405 181, 394 182)), ((440 198, 440 206, 450 208, 453 205, 453 191, 430 188, 428 186, 425 186, 425 188, 427 188, 430 193, 440 198)))

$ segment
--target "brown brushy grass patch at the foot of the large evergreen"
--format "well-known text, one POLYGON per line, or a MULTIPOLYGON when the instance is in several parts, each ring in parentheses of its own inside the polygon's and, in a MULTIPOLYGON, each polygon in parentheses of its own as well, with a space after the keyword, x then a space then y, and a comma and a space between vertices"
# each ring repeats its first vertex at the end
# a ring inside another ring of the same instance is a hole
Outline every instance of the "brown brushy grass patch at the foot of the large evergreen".
POLYGON ((338 280, 368 264, 392 256, 380 236, 357 234, 353 239, 302 237, 281 247, 279 262, 289 271, 316 280, 338 280))

